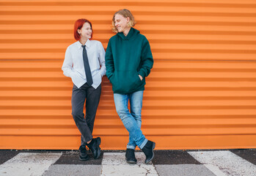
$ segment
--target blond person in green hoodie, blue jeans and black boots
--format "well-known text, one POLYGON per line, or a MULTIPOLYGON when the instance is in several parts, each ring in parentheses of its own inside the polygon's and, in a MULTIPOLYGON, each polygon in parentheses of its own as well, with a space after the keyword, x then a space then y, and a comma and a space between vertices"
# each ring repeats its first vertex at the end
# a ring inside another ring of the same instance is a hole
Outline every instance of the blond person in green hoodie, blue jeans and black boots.
POLYGON ((148 164, 154 157, 156 143, 143 135, 141 113, 145 77, 153 67, 150 44, 144 35, 133 28, 134 16, 129 10, 115 12, 112 24, 112 30, 117 34, 110 38, 106 49, 106 76, 112 84, 117 114, 129 132, 125 159, 129 164, 136 164, 134 150, 138 146, 145 153, 145 163, 148 164))

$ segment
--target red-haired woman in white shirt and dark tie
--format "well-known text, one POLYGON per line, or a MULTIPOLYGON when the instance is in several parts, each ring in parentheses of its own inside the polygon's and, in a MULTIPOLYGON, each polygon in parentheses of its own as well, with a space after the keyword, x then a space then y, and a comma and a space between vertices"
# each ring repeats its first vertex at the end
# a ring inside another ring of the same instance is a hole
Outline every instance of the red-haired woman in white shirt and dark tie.
POLYGON ((101 79, 106 74, 105 50, 99 41, 91 40, 92 23, 87 19, 76 21, 74 37, 77 42, 67 47, 62 70, 73 81, 72 115, 81 133, 79 159, 86 161, 89 159, 86 145, 95 159, 100 157, 100 137, 92 138, 92 130, 100 102, 101 79))

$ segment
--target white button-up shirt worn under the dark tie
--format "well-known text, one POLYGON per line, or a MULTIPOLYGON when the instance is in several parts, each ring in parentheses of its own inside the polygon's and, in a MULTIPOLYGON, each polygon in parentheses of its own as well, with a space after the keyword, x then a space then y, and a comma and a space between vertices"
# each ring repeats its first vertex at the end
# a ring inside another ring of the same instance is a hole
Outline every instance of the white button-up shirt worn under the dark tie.
MULTIPOLYGON (((106 74, 105 50, 97 40, 87 40, 85 45, 89 68, 92 73, 92 87, 96 89, 101 83, 101 78, 106 74)), ((67 47, 62 70, 63 74, 70 77, 73 84, 78 88, 87 82, 84 71, 83 48, 79 41, 67 47)))

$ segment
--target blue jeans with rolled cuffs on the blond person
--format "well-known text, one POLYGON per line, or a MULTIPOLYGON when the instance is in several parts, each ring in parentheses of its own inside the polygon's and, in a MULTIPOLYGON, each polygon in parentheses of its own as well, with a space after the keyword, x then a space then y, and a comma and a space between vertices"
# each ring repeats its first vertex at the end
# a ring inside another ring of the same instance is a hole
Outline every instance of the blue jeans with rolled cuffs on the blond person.
POLYGON ((140 129, 142 126, 142 98, 143 91, 125 95, 114 94, 114 104, 117 114, 129 132, 127 148, 130 149, 135 149, 136 145, 142 149, 147 143, 147 139, 140 129), (131 113, 128 109, 128 100, 130 100, 131 113))

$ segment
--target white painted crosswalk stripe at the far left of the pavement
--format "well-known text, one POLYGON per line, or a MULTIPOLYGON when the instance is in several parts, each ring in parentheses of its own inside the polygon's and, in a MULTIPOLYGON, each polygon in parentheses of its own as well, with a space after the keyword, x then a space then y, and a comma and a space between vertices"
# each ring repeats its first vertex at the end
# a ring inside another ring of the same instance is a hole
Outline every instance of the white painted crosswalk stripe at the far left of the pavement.
POLYGON ((40 176, 62 153, 18 153, 0 166, 2 176, 40 176))

